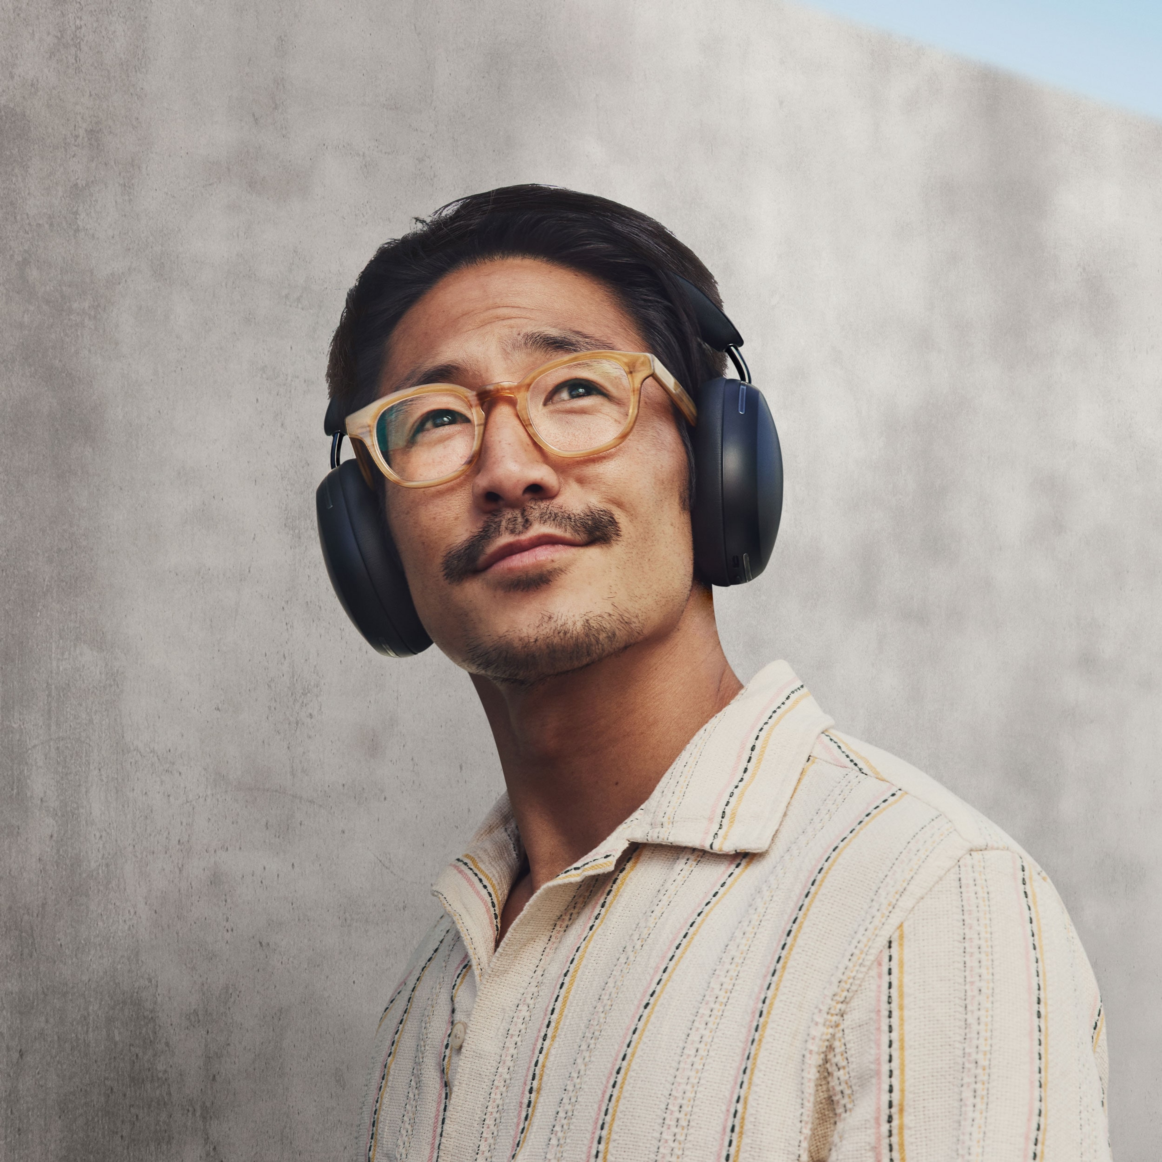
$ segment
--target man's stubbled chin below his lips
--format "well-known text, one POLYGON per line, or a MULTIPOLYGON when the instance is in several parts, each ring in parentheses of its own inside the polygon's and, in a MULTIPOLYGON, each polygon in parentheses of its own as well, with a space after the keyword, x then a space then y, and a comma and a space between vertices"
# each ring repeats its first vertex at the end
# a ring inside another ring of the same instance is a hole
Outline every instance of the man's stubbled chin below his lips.
POLYGON ((461 665, 469 674, 502 684, 536 686, 611 658, 641 640, 644 633, 640 618, 616 607, 600 614, 544 611, 532 629, 469 640, 461 665))

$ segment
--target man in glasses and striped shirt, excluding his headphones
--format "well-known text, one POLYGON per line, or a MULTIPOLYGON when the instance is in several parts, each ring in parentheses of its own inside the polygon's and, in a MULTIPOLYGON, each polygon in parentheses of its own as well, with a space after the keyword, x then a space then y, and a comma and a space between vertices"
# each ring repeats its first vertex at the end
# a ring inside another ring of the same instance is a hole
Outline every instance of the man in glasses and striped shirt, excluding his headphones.
POLYGON ((382 1014, 360 1154, 1107 1157, 1100 1000, 1045 874, 784 662, 744 687, 723 653, 686 397, 722 364, 675 275, 719 301, 644 215, 512 187, 347 296, 332 401, 508 788, 382 1014))

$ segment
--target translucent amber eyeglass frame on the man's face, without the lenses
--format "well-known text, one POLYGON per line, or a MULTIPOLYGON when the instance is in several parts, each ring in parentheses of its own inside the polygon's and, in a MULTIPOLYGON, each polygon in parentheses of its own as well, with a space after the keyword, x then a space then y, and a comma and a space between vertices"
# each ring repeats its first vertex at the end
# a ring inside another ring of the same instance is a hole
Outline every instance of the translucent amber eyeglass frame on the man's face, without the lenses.
MULTIPOLYGON (((501 381, 476 388, 460 387, 459 383, 419 383, 417 387, 407 387, 401 392, 392 392, 389 395, 368 403, 366 408, 352 411, 346 418, 347 436, 351 439, 352 447, 356 450, 356 456, 365 478, 370 473, 364 457, 360 454, 361 451, 371 456, 379 471, 401 488, 433 488, 436 485, 446 485, 449 481, 462 476, 476 462, 485 440, 485 424, 488 422, 488 417, 485 415, 485 404, 489 401, 498 399, 502 395, 515 400, 516 414, 521 417, 521 423, 532 440, 551 456, 575 460, 581 457, 598 456, 602 452, 608 452, 626 439, 630 432, 633 431, 634 423, 637 423, 641 385, 647 379, 655 380, 666 390, 679 411, 682 413, 691 425, 697 423, 698 409, 695 407, 694 400, 690 399, 686 388, 662 366, 661 360, 657 356, 629 351, 578 351, 543 364, 535 371, 529 372, 524 379, 516 383, 501 381), (630 399, 630 410, 625 418, 625 426, 617 436, 605 440, 604 444, 597 447, 586 449, 583 452, 566 452, 559 447, 554 447, 537 431, 537 426, 529 415, 529 389, 541 375, 557 371, 559 367, 565 367, 572 363, 588 363, 594 359, 608 359, 611 363, 619 364, 629 376, 632 396, 630 399), (430 395, 436 392, 452 392, 464 399, 472 409, 472 422, 475 428, 472 452, 454 472, 450 472, 436 480, 403 480, 392 469, 392 466, 380 452, 379 442, 375 439, 375 424, 379 422, 379 417, 394 404, 402 403, 404 400, 410 400, 417 395, 430 395), (358 444, 356 443, 357 440, 358 444)), ((371 483, 370 480, 368 483, 371 483)))

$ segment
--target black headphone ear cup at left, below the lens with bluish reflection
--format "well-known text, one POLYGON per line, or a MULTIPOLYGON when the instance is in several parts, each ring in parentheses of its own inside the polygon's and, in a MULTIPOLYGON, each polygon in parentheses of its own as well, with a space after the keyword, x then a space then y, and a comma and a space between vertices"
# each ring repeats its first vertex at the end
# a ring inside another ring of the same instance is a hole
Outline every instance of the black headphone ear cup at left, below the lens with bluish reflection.
POLYGON ((356 629, 380 653, 410 658, 432 639, 419 622, 379 498, 347 460, 315 493, 327 574, 356 629))

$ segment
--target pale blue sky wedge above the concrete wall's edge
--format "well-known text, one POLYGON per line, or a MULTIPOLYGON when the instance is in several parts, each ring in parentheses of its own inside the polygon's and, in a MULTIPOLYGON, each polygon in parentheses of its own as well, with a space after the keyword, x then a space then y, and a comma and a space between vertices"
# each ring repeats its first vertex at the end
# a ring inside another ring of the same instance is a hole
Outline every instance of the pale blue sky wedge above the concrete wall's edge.
POLYGON ((1162 0, 805 0, 1162 120, 1162 0))

